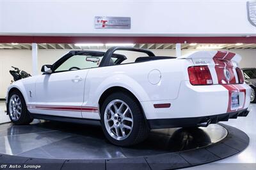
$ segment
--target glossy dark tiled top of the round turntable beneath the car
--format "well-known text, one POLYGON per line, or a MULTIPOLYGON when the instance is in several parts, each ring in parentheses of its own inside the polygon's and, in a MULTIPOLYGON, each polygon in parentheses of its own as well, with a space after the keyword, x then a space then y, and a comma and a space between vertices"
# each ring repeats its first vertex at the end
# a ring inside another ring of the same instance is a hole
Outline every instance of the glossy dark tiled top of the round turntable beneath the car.
POLYGON ((227 136, 221 125, 195 129, 162 129, 129 148, 111 145, 101 127, 60 122, 0 125, 0 153, 54 159, 108 159, 177 152, 216 143, 227 136))

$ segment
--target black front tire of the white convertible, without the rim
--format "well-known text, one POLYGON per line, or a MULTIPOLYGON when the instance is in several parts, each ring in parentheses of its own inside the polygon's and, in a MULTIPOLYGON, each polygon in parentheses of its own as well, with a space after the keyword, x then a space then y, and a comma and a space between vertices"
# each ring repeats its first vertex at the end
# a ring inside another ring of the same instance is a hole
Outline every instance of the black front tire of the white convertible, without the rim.
POLYGON ((29 111, 28 111, 25 99, 24 99, 24 97, 22 96, 22 94, 18 90, 15 90, 15 91, 11 92, 8 95, 7 113, 9 115, 9 117, 10 117, 10 120, 15 125, 28 125, 28 124, 30 124, 33 121, 33 118, 29 114, 29 111), (20 113, 20 117, 19 117, 18 120, 13 120, 13 118, 11 116, 11 113, 10 113, 10 99, 11 99, 11 97, 13 95, 19 96, 21 107, 22 107, 22 110, 21 110, 21 113, 20 113))

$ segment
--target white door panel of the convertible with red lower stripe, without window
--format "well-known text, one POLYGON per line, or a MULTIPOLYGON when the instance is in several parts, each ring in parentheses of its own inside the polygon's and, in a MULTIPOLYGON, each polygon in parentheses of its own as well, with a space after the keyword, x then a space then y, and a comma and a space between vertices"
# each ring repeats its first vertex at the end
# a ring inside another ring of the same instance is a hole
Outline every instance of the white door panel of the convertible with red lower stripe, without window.
POLYGON ((63 117, 81 117, 84 82, 88 70, 45 74, 36 81, 36 112, 63 117))

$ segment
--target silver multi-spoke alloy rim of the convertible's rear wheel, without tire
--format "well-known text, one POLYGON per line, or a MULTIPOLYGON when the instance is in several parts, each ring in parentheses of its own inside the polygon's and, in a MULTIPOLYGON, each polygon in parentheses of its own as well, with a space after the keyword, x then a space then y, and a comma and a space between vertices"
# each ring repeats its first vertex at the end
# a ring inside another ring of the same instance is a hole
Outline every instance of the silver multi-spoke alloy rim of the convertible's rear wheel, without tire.
POLYGON ((104 111, 104 123, 112 138, 119 141, 124 140, 132 131, 132 111, 124 101, 113 100, 104 111))

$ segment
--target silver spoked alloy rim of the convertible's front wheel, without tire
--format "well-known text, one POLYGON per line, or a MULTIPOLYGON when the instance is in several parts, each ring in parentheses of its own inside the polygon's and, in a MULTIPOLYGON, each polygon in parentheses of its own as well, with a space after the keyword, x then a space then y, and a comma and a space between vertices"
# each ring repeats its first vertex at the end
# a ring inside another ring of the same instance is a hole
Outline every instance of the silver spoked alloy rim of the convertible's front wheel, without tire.
POLYGON ((19 120, 22 111, 20 97, 17 94, 13 94, 9 102, 9 113, 12 120, 19 120))

